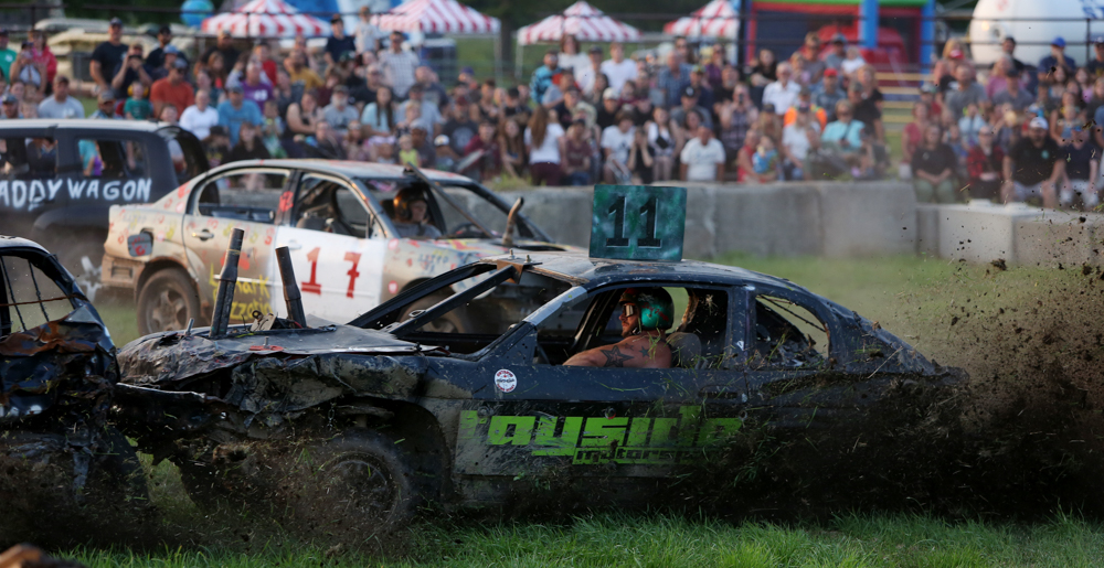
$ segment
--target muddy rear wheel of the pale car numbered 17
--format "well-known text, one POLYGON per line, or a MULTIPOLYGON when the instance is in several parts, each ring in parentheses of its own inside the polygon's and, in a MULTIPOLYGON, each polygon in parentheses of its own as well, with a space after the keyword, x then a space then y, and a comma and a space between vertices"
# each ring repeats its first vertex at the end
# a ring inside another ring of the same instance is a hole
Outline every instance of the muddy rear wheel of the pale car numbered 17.
POLYGON ((200 298, 188 275, 179 268, 160 270, 138 293, 138 332, 142 335, 177 331, 200 318, 200 298))

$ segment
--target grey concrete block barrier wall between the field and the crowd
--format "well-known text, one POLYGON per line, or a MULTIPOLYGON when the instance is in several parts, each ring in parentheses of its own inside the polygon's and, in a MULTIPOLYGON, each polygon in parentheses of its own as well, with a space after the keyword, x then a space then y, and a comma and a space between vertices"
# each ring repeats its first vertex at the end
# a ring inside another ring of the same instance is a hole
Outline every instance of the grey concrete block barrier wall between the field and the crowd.
MULTIPOLYGON (((677 182, 676 182, 677 183, 677 182)), ((672 184, 673 185, 673 184, 672 184)), ((905 182, 688 183, 684 256, 725 253, 830 258, 924 254, 938 258, 1065 266, 1104 261, 1104 215, 1023 204, 917 204, 905 182)), ((558 243, 586 247, 591 187, 503 192, 558 243)), ((479 208, 476 200, 470 207, 479 208)), ((500 213, 481 212, 505 221, 500 213)))

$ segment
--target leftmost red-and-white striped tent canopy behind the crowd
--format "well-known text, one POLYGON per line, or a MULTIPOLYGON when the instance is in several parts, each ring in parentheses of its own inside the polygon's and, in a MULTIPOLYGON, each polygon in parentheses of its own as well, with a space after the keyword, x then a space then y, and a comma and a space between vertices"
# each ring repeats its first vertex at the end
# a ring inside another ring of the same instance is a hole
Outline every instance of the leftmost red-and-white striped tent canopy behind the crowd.
POLYGON ((234 37, 307 37, 329 35, 330 25, 318 18, 301 14, 283 0, 252 0, 233 12, 203 20, 200 30, 219 33, 229 30, 234 37))

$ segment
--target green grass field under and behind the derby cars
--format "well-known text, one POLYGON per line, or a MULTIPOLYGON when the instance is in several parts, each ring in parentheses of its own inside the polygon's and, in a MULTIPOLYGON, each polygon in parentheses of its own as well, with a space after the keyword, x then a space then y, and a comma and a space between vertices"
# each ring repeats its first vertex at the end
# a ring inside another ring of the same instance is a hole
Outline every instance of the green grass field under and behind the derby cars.
MULTIPOLYGON (((1041 290, 1062 290, 1098 276, 1083 276, 1081 270, 1004 271, 920 257, 718 260, 788 278, 879 321, 941 361, 962 357, 943 351, 957 341, 948 322, 952 307, 968 304, 983 312, 1026 307, 1041 290)), ((130 310, 125 303, 102 308, 120 345, 136 334, 130 310)), ((192 538, 198 544, 142 553, 84 548, 63 554, 104 567, 1104 566, 1104 526, 1062 513, 1031 523, 869 511, 841 511, 830 519, 794 524, 601 512, 555 523, 438 516, 399 535, 384 553, 365 556, 335 553, 327 548, 329 543, 301 543, 278 527, 265 532, 268 536, 242 538, 224 519, 206 517, 191 504, 173 467, 161 464, 150 474, 151 497, 163 522, 189 527, 199 535, 192 538)))

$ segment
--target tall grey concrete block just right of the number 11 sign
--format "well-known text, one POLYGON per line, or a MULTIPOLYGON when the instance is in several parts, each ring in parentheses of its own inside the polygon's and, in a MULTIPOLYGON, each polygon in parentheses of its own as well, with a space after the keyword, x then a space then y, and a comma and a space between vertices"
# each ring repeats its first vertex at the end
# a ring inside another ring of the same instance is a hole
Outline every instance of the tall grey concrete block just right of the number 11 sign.
MULTIPOLYGON (((820 255, 819 192, 805 184, 722 185, 715 190, 716 254, 820 255)), ((687 221, 690 224, 690 221, 687 221)))

